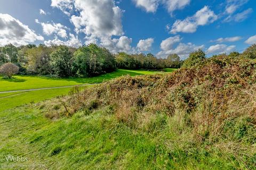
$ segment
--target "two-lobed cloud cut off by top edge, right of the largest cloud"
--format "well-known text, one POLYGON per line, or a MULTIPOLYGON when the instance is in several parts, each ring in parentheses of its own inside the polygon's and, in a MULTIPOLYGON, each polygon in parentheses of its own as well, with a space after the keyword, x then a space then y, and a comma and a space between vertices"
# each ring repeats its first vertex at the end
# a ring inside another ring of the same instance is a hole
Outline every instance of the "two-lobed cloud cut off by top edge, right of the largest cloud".
POLYGON ((190 0, 133 0, 137 7, 143 8, 146 12, 156 12, 157 7, 162 3, 172 14, 175 10, 180 10, 190 3, 190 0))

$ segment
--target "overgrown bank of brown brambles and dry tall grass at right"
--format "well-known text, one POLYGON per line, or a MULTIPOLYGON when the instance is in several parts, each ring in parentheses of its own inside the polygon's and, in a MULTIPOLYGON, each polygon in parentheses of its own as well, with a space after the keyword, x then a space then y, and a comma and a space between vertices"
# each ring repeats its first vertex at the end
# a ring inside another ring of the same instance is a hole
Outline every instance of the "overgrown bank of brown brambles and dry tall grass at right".
POLYGON ((127 128, 154 135, 183 167, 202 160, 224 169, 253 169, 255 67, 253 60, 216 56, 170 74, 125 76, 74 90, 58 112, 113 114, 127 128))

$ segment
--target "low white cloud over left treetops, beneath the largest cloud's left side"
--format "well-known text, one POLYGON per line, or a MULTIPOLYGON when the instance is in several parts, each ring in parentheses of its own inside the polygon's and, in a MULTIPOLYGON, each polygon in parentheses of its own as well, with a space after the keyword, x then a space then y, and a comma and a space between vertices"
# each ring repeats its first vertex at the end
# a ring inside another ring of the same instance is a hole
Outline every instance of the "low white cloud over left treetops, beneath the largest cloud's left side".
POLYGON ((66 45, 70 47, 80 47, 82 46, 81 41, 78 39, 77 36, 73 34, 69 34, 69 39, 67 41, 62 41, 58 38, 55 38, 53 40, 44 41, 44 44, 46 46, 52 46, 52 45, 66 45))

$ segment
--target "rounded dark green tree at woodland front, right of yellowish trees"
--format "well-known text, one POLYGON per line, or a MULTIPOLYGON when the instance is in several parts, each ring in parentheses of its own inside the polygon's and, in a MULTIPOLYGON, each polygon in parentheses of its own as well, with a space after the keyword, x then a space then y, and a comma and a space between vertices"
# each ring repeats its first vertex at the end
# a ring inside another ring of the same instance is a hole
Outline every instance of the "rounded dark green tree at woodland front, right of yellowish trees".
POLYGON ((59 77, 74 75, 73 55, 67 46, 60 46, 58 50, 50 55, 50 65, 59 77))

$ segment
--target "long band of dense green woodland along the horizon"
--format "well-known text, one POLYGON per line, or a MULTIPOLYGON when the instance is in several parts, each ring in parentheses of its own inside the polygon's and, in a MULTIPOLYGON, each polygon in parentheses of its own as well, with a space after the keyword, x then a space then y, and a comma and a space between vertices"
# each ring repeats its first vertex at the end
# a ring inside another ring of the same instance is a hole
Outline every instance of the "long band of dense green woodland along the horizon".
MULTIPOLYGON (((233 52, 229 56, 255 58, 255 53, 256 45, 252 45, 242 54, 233 52)), ((111 54, 108 49, 95 44, 80 48, 31 44, 20 47, 9 44, 0 47, 0 66, 13 63, 19 67, 19 74, 56 77, 93 77, 116 69, 162 70, 165 67, 189 67, 205 57, 206 54, 201 49, 191 53, 187 60, 181 61, 177 54, 166 58, 157 58, 150 53, 111 54)))

